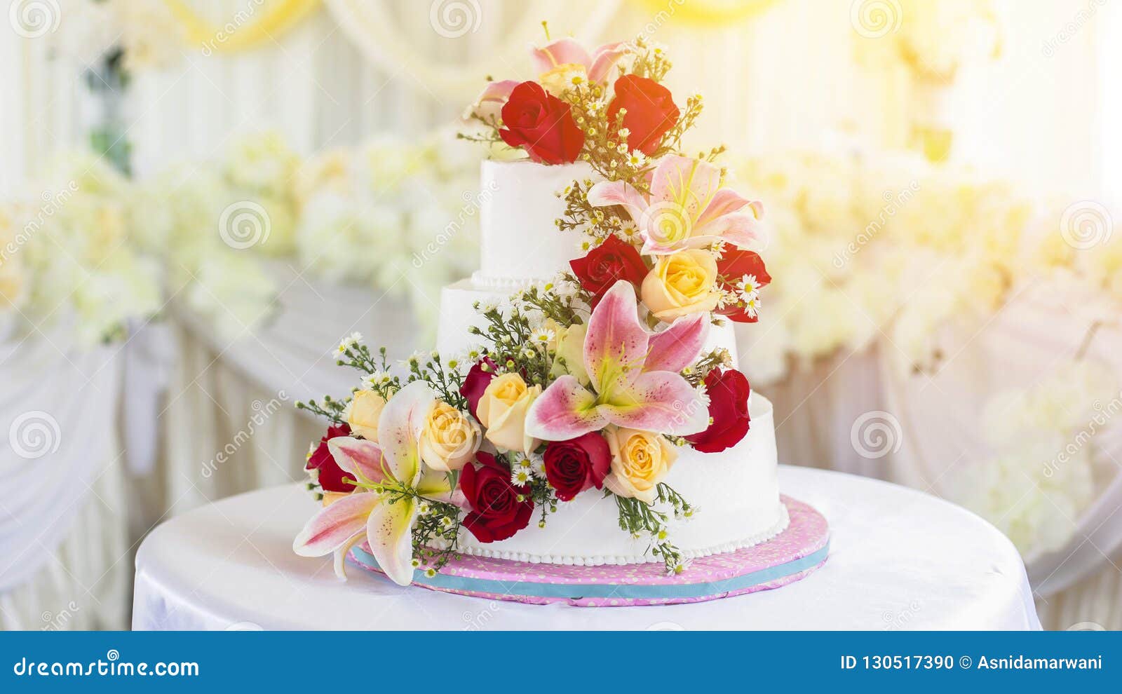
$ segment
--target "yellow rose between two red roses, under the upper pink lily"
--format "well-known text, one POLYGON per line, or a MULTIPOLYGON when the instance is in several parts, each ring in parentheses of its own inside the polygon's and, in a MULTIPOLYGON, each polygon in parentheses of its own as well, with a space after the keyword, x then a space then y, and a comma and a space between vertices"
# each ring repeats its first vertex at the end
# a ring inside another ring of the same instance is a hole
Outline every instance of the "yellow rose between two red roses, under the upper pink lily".
POLYGON ((716 308, 720 298, 716 283, 712 253, 691 249, 660 257, 643 279, 641 294, 654 317, 672 323, 679 316, 716 308))

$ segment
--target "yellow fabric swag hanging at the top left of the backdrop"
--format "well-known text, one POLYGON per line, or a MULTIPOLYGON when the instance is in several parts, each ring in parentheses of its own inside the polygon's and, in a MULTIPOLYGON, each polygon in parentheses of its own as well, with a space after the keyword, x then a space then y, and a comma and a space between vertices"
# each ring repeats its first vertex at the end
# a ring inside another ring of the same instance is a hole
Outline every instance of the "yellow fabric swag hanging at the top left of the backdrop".
POLYGON ((213 53, 238 53, 275 39, 300 24, 321 3, 321 0, 276 0, 269 2, 267 8, 261 7, 266 1, 239 9, 223 24, 200 17, 187 0, 164 0, 164 3, 182 25, 187 41, 213 53))

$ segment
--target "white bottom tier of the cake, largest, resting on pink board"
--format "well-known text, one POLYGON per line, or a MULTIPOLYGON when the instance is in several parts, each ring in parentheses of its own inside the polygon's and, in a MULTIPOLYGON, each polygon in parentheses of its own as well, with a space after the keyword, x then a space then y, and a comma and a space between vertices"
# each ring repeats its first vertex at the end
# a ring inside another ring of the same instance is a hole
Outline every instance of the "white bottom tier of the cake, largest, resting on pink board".
MULTIPOLYGON (((670 528, 671 542, 686 558, 752 547, 787 528, 772 405, 752 394, 748 413, 751 428, 736 446, 720 453, 683 447, 666 475, 666 484, 697 509, 670 528)), ((509 539, 488 544, 467 531, 460 536, 460 550, 467 555, 576 566, 661 564, 650 545, 650 538, 633 538, 622 530, 615 499, 595 490, 560 503, 544 528, 531 524, 509 539)))

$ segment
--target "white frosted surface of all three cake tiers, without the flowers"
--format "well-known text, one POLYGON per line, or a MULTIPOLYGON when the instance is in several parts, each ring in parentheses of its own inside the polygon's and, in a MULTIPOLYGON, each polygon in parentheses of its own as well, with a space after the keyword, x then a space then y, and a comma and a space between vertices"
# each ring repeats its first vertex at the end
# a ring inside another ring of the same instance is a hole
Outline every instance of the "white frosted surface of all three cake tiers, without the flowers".
MULTIPOLYGON (((564 211, 558 193, 574 179, 588 178, 596 176, 579 163, 484 161, 480 270, 443 289, 439 352, 465 354, 476 346, 468 329, 481 320, 473 309, 477 302, 502 305, 519 288, 550 281, 581 256, 576 234, 557 229, 555 220, 564 211)), ((709 348, 715 346, 732 354, 735 368, 736 344, 727 321, 709 332, 709 348)), ((771 402, 753 392, 749 415, 751 428, 737 445, 719 453, 683 447, 666 476, 666 483, 698 509, 673 528, 674 543, 687 558, 749 547, 787 528, 771 402)), ((617 526, 614 498, 585 493, 560 505, 544 528, 532 526, 487 544, 462 533, 459 548, 465 554, 551 564, 662 561, 647 552, 649 538, 632 538, 617 526)))

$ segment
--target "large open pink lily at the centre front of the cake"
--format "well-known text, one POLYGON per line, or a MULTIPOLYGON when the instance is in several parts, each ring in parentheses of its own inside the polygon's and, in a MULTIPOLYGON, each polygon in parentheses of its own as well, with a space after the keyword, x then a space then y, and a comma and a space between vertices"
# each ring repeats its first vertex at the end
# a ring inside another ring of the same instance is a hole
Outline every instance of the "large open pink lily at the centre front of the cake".
POLYGON ((526 433, 565 441, 609 424, 688 436, 709 426, 709 410, 679 373, 701 353, 708 314, 682 316, 651 333, 638 320, 635 289, 619 280, 592 311, 585 336, 589 390, 573 376, 545 389, 526 415, 526 433))

